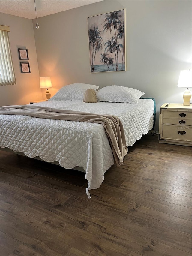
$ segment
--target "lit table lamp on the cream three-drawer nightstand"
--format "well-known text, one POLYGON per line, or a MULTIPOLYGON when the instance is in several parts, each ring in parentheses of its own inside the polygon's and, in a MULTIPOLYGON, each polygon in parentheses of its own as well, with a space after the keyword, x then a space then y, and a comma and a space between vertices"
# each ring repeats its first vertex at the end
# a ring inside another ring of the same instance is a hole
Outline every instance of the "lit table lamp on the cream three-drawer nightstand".
POLYGON ((191 92, 189 87, 192 87, 192 70, 182 70, 179 75, 178 87, 187 87, 183 94, 183 106, 190 106, 191 92))

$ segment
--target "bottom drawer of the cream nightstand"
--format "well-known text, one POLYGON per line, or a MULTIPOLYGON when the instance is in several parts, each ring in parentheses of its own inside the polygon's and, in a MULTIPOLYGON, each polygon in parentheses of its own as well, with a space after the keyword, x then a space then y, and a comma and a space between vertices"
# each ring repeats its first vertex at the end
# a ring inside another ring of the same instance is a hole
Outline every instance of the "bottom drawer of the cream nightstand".
POLYGON ((163 124, 161 139, 192 141, 192 127, 163 124))

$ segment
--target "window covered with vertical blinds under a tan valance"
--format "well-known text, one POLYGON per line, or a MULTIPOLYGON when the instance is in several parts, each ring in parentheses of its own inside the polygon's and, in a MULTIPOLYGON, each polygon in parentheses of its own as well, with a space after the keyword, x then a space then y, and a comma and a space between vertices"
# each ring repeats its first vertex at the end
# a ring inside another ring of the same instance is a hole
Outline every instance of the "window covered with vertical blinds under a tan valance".
POLYGON ((9 26, 0 25, 0 85, 16 84, 8 32, 9 26))

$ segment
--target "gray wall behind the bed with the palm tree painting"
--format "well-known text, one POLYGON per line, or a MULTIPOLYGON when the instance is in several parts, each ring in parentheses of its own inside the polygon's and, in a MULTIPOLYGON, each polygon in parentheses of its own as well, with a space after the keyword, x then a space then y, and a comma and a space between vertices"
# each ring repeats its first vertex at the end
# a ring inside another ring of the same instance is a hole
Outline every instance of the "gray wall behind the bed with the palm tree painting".
POLYGON ((38 23, 39 74, 51 77, 52 95, 79 82, 139 89, 155 98, 157 116, 163 103, 182 103, 184 89, 177 82, 180 70, 191 68, 191 1, 103 1, 39 18, 38 23), (127 71, 91 74, 87 17, 123 8, 127 71))

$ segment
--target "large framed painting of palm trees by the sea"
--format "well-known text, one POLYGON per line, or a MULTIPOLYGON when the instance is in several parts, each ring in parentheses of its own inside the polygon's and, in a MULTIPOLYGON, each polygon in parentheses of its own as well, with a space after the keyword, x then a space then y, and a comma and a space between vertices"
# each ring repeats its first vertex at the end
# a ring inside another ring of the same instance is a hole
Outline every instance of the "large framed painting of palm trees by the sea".
POLYGON ((91 73, 126 71, 125 9, 88 17, 91 73))

